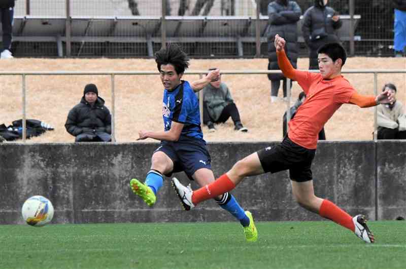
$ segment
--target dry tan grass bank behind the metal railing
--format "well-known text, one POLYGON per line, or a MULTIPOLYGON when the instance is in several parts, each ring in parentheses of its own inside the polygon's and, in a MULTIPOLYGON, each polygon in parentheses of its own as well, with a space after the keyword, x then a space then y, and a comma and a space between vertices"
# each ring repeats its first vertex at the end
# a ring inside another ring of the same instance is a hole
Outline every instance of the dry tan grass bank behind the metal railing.
MULTIPOLYGON (((267 59, 192 59, 189 70, 264 70, 267 59)), ((298 68, 306 69, 308 59, 300 58, 298 68)), ((3 71, 155 71, 153 59, 13 59, 1 60, 3 71)), ((343 70, 348 69, 406 69, 406 58, 349 58, 343 70)), ((374 94, 373 74, 344 74, 361 94, 374 94)), ((197 75, 185 75, 193 81, 197 75)), ((287 106, 284 102, 270 102, 270 83, 266 75, 222 76, 231 90, 248 133, 233 131, 231 120, 217 125, 217 132, 208 133, 207 141, 278 141, 282 138, 282 116, 287 106)), ((158 75, 117 75, 116 81, 116 140, 135 142, 138 131, 163 129, 162 85, 158 75)), ((406 103, 406 74, 379 74, 378 88, 392 82, 397 86, 397 99, 406 103)), ((49 131, 29 142, 73 142, 74 137, 64 128, 69 110, 83 95, 87 83, 94 83, 99 96, 111 109, 110 76, 96 75, 30 75, 26 79, 27 119, 37 119, 51 124, 49 131)), ((21 76, 0 75, 0 124, 10 125, 22 118, 21 76)), ((292 104, 300 87, 292 88, 292 104)), ((279 91, 282 96, 282 89, 279 91)), ((374 108, 343 105, 325 126, 327 140, 370 140, 374 126, 374 108)), ((153 142, 152 139, 144 140, 153 142)), ((18 141, 17 141, 18 142, 18 141)))

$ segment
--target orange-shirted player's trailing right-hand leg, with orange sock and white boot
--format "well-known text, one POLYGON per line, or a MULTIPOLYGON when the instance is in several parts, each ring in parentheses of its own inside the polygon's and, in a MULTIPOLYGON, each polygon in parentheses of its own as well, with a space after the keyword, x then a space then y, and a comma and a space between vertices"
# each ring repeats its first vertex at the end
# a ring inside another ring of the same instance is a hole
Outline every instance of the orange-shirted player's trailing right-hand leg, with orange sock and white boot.
POLYGON ((291 180, 291 184, 293 197, 301 207, 350 229, 366 243, 374 243, 374 235, 366 225, 365 216, 352 217, 327 199, 315 196, 313 180, 304 182, 291 180))

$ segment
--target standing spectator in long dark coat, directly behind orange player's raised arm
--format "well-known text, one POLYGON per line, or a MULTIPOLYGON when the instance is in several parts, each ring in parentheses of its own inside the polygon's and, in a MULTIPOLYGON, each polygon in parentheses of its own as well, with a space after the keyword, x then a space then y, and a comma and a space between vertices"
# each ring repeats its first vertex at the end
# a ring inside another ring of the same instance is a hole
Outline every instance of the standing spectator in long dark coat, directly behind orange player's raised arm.
MULTIPOLYGON (((275 35, 279 34, 286 41, 285 52, 293 68, 297 68, 297 21, 300 19, 301 9, 295 1, 276 0, 268 5, 268 70, 279 70, 276 49, 274 46, 275 35)), ((268 74, 270 80, 270 99, 278 100, 278 91, 283 80, 283 97, 286 98, 286 78, 283 74, 268 74)), ((289 85, 292 87, 292 84, 289 85)))

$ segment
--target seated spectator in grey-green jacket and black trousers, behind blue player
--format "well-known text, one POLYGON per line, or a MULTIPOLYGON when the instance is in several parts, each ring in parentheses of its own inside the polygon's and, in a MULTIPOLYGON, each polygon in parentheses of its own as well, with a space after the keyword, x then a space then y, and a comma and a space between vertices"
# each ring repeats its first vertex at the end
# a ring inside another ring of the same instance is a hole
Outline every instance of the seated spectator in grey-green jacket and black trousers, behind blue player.
POLYGON ((234 130, 248 132, 241 123, 238 108, 231 98, 227 85, 221 82, 220 75, 217 81, 203 88, 203 123, 209 127, 209 132, 215 132, 214 124, 225 123, 230 117, 234 122, 234 130))

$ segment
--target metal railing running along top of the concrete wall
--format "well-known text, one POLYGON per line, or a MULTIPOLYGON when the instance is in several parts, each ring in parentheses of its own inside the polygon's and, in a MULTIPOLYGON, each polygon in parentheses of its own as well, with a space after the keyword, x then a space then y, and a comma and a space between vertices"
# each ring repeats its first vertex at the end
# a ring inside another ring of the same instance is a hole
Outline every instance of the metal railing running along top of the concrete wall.
MULTIPOLYGON (((318 70, 309 70, 311 72, 319 72, 318 70)), ((272 74, 272 73, 282 73, 280 70, 246 70, 246 71, 239 71, 239 70, 225 70, 221 71, 221 74, 272 74)), ((374 95, 378 94, 378 74, 380 73, 404 73, 406 74, 405 69, 387 69, 387 70, 367 70, 367 69, 353 69, 353 70, 345 70, 342 73, 356 73, 356 74, 374 74, 374 95)), ((92 71, 92 72, 83 72, 83 71, 43 71, 43 72, 36 72, 36 71, 0 71, 0 75, 21 75, 22 81, 22 141, 25 142, 26 140, 26 76, 27 75, 110 75, 111 77, 111 95, 112 95, 112 141, 115 142, 115 75, 158 75, 159 73, 156 71, 92 71)), ((207 74, 207 70, 205 71, 186 71, 185 74, 194 74, 199 75, 202 78, 204 75, 207 74)), ((289 79, 287 81, 287 85, 289 85, 289 79)), ((202 123, 203 117, 203 92, 198 92, 199 96, 199 108, 200 108, 200 122, 202 123)), ((291 92, 290 88, 287 89, 287 96, 289 97, 286 102, 286 117, 287 123, 290 120, 290 106, 291 106, 291 92)), ((377 106, 375 106, 374 111, 374 141, 377 141, 377 106)), ((286 129, 288 130, 288 129, 286 129)))

